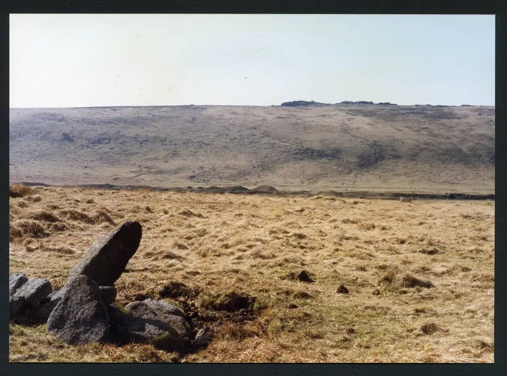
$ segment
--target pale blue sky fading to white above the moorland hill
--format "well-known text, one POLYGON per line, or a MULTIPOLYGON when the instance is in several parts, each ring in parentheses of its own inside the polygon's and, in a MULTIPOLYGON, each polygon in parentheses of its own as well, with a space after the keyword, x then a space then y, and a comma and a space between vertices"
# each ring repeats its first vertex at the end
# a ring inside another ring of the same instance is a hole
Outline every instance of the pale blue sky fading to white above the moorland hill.
POLYGON ((494 105, 491 15, 11 15, 10 106, 494 105))

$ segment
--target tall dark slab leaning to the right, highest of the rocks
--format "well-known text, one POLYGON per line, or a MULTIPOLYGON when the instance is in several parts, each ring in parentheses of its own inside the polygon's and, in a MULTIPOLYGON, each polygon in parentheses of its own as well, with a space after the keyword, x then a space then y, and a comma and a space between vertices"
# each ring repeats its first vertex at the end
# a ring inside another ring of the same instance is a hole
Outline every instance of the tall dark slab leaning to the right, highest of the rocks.
POLYGON ((99 286, 113 286, 125 271, 141 241, 139 222, 126 221, 109 234, 99 238, 70 271, 68 281, 85 275, 99 286))

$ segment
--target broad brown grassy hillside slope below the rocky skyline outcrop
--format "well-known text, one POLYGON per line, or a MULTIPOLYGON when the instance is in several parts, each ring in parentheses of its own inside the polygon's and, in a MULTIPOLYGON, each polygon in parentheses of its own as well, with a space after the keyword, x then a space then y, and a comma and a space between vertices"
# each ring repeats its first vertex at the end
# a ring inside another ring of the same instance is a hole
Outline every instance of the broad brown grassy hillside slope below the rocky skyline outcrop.
POLYGON ((494 193, 494 107, 10 109, 10 180, 494 193))

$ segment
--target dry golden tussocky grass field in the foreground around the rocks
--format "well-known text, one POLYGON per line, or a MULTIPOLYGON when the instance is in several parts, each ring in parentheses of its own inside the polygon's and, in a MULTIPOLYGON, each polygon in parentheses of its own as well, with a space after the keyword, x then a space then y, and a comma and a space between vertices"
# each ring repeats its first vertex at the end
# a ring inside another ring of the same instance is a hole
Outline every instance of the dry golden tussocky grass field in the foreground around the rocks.
POLYGON ((10 323, 10 361, 493 362, 493 201, 14 191, 10 273, 60 288, 99 235, 138 220, 117 302, 170 298, 214 342, 71 346, 10 323))

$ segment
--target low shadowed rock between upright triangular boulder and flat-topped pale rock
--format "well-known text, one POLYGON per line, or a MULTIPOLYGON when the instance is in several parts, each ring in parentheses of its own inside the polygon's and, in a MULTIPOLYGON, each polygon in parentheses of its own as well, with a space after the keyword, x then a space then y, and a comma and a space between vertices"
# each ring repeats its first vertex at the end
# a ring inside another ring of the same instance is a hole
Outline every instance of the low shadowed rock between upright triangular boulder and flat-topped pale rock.
POLYGON ((152 344, 156 348, 174 351, 182 346, 179 334, 159 320, 133 317, 123 313, 114 305, 108 307, 111 331, 108 339, 119 344, 152 344))

